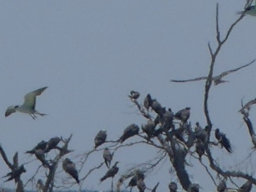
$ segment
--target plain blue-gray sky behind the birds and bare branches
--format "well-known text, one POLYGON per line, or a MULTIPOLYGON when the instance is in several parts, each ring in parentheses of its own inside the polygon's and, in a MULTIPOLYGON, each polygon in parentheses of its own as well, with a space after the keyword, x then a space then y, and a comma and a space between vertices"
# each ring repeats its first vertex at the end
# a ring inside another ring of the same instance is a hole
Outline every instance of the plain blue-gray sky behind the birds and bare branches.
MULTIPOLYGON (((70 148, 76 151, 70 158, 92 149, 94 136, 101 129, 107 130, 109 140, 117 139, 127 125, 145 122, 127 98, 131 90, 140 91, 140 99, 151 93, 174 111, 190 106, 191 123, 205 125, 204 83, 173 84, 169 80, 206 75, 210 61, 207 43, 216 45, 217 2, 223 34, 245 1, 1 1, 0 141, 8 157, 19 151, 20 163, 25 163, 34 158, 23 154, 27 149, 57 135, 73 133, 70 148), (49 88, 38 98, 36 108, 47 116, 36 121, 18 113, 4 117, 9 105, 21 104, 23 95, 42 86, 49 88)), ((250 16, 239 23, 223 46, 214 74, 256 58, 255 27, 255 18, 250 16)), ((253 64, 231 74, 225 78, 230 83, 213 86, 210 92, 214 127, 228 135, 235 149, 233 155, 214 153, 224 167, 236 165, 251 151, 237 111, 243 97, 245 102, 255 98, 255 70, 253 64)), ((251 116, 255 113, 252 109, 251 116)), ((119 150, 114 158, 120 162, 118 176, 133 163, 154 155, 155 150, 146 146, 119 150)), ((102 161, 101 156, 98 153, 89 159, 81 177, 102 161)), ((2 177, 9 170, 2 158, 0 162, 2 177)), ((202 166, 191 163, 191 180, 199 182, 203 191, 213 189, 202 166)), ((22 179, 38 165, 26 165, 22 179)), ((169 161, 161 166, 148 175, 146 185, 152 188, 161 181, 159 191, 166 191, 167 183, 177 178, 168 172, 169 161)), ((243 170, 241 166, 237 169, 243 170)), ((106 167, 95 171, 83 187, 109 188, 110 180, 98 185, 106 171, 106 167)), ((3 180, 0 185, 14 186, 3 180)))

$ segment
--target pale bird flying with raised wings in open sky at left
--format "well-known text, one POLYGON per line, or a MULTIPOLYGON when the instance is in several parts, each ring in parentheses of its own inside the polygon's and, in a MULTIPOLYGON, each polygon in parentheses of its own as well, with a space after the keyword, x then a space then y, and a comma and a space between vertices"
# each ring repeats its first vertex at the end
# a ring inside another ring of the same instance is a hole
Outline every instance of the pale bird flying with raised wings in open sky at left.
POLYGON ((10 106, 7 108, 7 110, 5 112, 5 117, 8 117, 9 115, 11 115, 12 113, 15 113, 16 111, 18 111, 20 113, 26 113, 26 114, 30 115, 33 119, 36 118, 35 114, 41 115, 41 116, 46 115, 46 114, 39 113, 35 109, 36 96, 41 95, 43 93, 43 91, 46 90, 46 88, 47 88, 47 86, 26 94, 24 97, 24 102, 21 106, 17 105, 17 106, 10 106))

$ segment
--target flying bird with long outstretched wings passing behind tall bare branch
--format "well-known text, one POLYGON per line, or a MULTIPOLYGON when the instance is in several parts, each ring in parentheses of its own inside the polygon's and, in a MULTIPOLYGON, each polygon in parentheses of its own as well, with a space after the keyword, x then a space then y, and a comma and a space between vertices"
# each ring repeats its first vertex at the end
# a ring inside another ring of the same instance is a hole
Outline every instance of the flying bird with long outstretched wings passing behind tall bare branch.
MULTIPOLYGON (((247 67, 249 65, 251 65, 255 60, 252 60, 251 62, 247 63, 246 65, 243 65, 241 67, 235 68, 235 69, 230 69, 227 70, 223 73, 221 73, 220 75, 214 76, 212 77, 212 81, 215 85, 219 85, 220 83, 225 83, 228 81, 222 80, 223 77, 225 77, 226 75, 230 74, 230 73, 234 73, 235 71, 238 71, 244 67, 247 67)), ((197 77, 197 78, 193 78, 193 79, 186 79, 186 80, 175 80, 172 79, 171 82, 175 82, 175 83, 185 83, 185 82, 194 82, 194 81, 201 81, 201 80, 206 80, 208 77, 197 77)))

